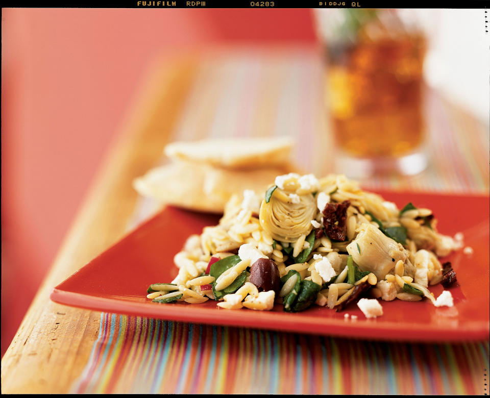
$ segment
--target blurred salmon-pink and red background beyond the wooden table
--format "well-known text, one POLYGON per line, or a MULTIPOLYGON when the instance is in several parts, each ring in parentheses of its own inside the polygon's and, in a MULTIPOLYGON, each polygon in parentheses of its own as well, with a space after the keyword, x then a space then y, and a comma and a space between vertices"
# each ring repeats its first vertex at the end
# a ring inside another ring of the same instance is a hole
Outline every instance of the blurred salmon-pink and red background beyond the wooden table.
POLYGON ((152 57, 314 40, 310 10, 2 10, 2 356, 152 57))

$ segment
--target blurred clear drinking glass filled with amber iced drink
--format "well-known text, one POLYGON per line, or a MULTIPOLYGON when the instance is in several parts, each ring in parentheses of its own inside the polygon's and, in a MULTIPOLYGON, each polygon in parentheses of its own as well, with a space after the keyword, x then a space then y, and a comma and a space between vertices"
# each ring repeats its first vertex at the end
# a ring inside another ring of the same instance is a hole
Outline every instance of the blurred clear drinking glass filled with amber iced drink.
POLYGON ((425 169, 426 38, 410 10, 315 10, 337 171, 351 177, 425 169))

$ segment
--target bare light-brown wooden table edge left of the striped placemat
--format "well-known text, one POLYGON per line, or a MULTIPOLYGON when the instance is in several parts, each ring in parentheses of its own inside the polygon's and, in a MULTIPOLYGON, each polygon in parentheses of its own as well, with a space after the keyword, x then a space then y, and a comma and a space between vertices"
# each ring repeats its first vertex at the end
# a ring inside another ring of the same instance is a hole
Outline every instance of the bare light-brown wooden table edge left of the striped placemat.
POLYGON ((125 234, 135 177, 160 160, 192 85, 196 59, 161 56, 135 101, 55 262, 2 358, 2 393, 67 393, 99 334, 100 312, 56 304, 54 286, 125 234))

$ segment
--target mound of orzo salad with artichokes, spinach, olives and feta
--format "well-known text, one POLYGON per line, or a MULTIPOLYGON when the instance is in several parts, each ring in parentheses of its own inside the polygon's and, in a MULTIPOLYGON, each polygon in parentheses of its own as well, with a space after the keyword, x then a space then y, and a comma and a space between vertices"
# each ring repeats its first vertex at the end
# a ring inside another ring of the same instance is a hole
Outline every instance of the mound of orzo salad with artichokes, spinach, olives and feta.
POLYGON ((217 226, 190 236, 174 262, 178 276, 155 283, 155 303, 215 300, 224 309, 337 311, 356 302, 366 317, 382 314, 378 300, 452 306, 445 290, 456 281, 444 257, 461 239, 439 234, 431 210, 402 209, 345 176, 278 176, 266 192, 234 195, 217 226), (362 296, 371 296, 371 299, 362 296))

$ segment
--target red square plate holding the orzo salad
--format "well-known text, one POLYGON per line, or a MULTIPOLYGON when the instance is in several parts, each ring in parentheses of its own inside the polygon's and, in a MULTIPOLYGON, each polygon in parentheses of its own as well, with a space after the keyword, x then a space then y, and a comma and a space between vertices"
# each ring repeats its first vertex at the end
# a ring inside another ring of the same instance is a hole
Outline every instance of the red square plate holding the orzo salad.
MULTIPOLYGON (((287 313, 276 304, 272 311, 225 310, 214 301, 204 304, 157 304, 146 299, 146 288, 170 282, 177 275, 174 255, 190 234, 215 225, 218 217, 166 207, 118 243, 58 285, 51 293, 57 303, 92 310, 203 324, 282 330, 363 339, 405 341, 484 340, 489 333, 489 198, 432 193, 380 192, 403 207, 412 202, 432 209, 437 228, 447 235, 462 232, 472 255, 452 254, 458 284, 451 288, 454 307, 421 302, 381 302, 384 314, 366 319, 355 304, 335 312, 312 306, 287 313), (344 314, 357 320, 344 319, 344 314)), ((435 296, 440 285, 431 287, 435 296)))

